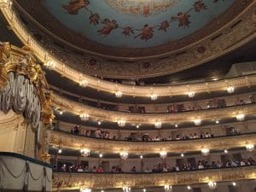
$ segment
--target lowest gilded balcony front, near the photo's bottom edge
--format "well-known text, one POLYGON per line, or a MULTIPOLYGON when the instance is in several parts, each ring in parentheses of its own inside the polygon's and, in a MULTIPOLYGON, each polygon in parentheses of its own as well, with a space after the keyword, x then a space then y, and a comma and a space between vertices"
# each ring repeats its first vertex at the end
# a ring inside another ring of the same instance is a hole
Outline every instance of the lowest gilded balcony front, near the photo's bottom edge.
POLYGON ((116 189, 229 182, 256 178, 256 167, 236 167, 160 174, 54 173, 53 189, 116 189))

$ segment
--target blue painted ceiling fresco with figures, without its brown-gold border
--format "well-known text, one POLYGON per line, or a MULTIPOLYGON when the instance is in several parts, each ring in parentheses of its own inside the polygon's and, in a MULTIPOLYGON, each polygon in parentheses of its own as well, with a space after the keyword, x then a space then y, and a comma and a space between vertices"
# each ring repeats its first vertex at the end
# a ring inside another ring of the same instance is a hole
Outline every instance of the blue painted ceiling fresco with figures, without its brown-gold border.
POLYGON ((170 44, 207 26, 236 0, 44 0, 64 26, 115 48, 170 44))

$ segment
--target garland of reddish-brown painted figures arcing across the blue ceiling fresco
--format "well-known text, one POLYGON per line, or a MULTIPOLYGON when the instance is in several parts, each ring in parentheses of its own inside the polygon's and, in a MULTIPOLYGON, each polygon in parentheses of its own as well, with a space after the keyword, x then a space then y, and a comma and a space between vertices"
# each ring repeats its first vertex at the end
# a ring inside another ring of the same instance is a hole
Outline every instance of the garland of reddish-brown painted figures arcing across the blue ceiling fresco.
MULTIPOLYGON (((63 9, 67 10, 70 15, 78 15, 80 9, 84 9, 90 14, 89 23, 93 26, 103 25, 101 29, 97 30, 99 35, 107 37, 111 34, 114 29, 121 29, 122 34, 126 37, 134 36, 134 39, 140 38, 144 41, 148 41, 154 37, 154 32, 168 32, 168 28, 171 26, 172 22, 177 21, 177 26, 188 28, 191 23, 193 23, 191 15, 189 12, 195 11, 195 13, 201 12, 202 9, 207 9, 207 5, 203 3, 204 0, 195 0, 191 5, 189 10, 178 11, 177 15, 170 15, 169 20, 163 20, 159 25, 150 26, 149 24, 144 24, 141 28, 135 28, 133 26, 121 26, 119 21, 111 20, 109 18, 103 19, 99 13, 95 13, 89 8, 91 0, 70 0, 67 4, 63 4, 63 9), (192 21, 191 21, 192 20, 192 21), (156 31, 154 29, 157 29, 156 31)), ((218 0, 212 0, 213 3, 218 3, 218 0)))

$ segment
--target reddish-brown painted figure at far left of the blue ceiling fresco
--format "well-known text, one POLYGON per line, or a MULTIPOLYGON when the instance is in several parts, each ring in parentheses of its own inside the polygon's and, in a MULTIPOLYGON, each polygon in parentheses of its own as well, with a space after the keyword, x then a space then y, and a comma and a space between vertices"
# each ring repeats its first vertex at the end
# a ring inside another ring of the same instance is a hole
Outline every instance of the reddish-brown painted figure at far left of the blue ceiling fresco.
POLYGON ((68 4, 63 4, 62 7, 67 9, 69 14, 78 15, 79 9, 87 9, 88 4, 90 4, 89 0, 71 0, 68 4))

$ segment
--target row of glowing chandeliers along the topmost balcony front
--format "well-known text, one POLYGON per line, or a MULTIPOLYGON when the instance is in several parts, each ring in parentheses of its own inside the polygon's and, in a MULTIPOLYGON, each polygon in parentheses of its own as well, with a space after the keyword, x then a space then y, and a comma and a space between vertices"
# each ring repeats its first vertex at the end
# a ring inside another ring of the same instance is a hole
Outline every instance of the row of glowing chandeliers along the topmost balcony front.
MULTIPOLYGON (((2 2, 4 2, 5 4, 8 4, 7 2, 9 2, 10 5, 12 4, 11 1, 9 1, 9 0, 0 0, 0 4, 1 4, 2 2)), ((53 70, 53 69, 55 69, 56 64, 55 64, 55 61, 48 60, 48 61, 44 62, 44 66, 47 67, 47 68, 49 68, 50 70, 53 70)), ((84 88, 85 88, 85 87, 87 87, 87 85, 88 85, 88 81, 85 80, 85 79, 84 79, 84 80, 80 80, 80 81, 79 81, 79 85, 80 85, 81 87, 84 87, 84 88)), ((230 86, 230 87, 228 87, 226 90, 227 90, 227 92, 228 92, 229 94, 232 94, 232 93, 234 93, 235 88, 234 88, 233 86, 230 86)), ((192 98, 192 97, 195 96, 195 91, 189 91, 189 92, 187 93, 187 95, 189 96, 189 98, 192 98)), ((116 91, 116 92, 114 93, 114 96, 117 97, 117 98, 120 98, 120 97, 123 96, 123 92, 120 91, 120 90, 118 90, 118 91, 116 91)), ((157 100, 158 95, 156 95, 156 94, 151 94, 151 95, 150 95, 150 98, 151 98, 152 101, 155 101, 155 100, 157 100)))

